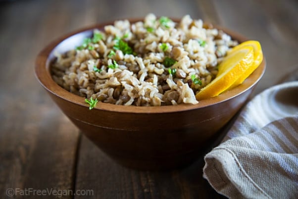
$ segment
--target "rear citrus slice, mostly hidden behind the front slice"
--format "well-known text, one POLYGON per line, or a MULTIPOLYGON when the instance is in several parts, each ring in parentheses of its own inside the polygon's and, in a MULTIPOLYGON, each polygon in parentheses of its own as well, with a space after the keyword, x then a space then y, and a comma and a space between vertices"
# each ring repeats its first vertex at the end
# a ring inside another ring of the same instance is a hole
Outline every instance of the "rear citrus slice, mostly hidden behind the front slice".
POLYGON ((261 49, 261 45, 258 41, 246 41, 241 43, 240 45, 234 47, 233 49, 231 49, 230 51, 228 51, 228 55, 232 54, 234 52, 236 52, 237 50, 240 50, 243 47, 246 46, 251 46, 253 47, 253 56, 254 56, 254 61, 253 64, 251 65, 251 67, 248 68, 248 70, 239 77, 238 80, 236 80, 236 82, 231 86, 231 88, 234 88, 236 86, 238 86, 239 84, 242 84, 244 82, 244 80, 246 78, 248 78, 248 76, 260 65, 260 63, 263 61, 263 52, 261 49))

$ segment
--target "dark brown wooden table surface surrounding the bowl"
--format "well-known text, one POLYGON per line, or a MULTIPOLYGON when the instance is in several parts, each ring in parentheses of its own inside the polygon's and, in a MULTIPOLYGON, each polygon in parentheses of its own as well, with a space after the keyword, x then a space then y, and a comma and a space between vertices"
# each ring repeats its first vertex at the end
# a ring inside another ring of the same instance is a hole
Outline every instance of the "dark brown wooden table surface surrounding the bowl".
POLYGON ((34 76, 37 53, 62 34, 149 12, 190 14, 260 41, 267 70, 255 94, 298 68, 296 0, 0 1, 0 198, 9 198, 8 188, 19 190, 13 198, 38 198, 33 191, 20 196, 25 189, 92 190, 93 196, 62 196, 76 199, 223 198, 202 178, 203 155, 167 172, 116 164, 63 115, 34 76))

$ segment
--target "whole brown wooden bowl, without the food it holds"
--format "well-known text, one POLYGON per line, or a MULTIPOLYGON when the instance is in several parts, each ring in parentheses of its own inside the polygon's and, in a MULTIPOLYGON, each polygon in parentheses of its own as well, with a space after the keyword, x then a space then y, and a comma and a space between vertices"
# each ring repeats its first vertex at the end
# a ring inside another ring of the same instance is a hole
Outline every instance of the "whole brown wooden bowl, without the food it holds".
MULTIPOLYGON (((131 20, 134 22, 137 20, 131 20)), ((99 102, 89 110, 85 98, 59 87, 51 78, 54 51, 80 46, 100 24, 62 36, 42 50, 35 65, 36 77, 67 117, 101 150, 122 165, 136 169, 169 169, 195 161, 206 143, 244 105, 265 71, 265 61, 240 86, 196 105, 160 107, 124 106, 99 102)), ((218 27, 217 27, 218 28, 218 27)), ((243 42, 247 40, 219 28, 243 42)), ((57 138, 58 139, 58 138, 57 138)))

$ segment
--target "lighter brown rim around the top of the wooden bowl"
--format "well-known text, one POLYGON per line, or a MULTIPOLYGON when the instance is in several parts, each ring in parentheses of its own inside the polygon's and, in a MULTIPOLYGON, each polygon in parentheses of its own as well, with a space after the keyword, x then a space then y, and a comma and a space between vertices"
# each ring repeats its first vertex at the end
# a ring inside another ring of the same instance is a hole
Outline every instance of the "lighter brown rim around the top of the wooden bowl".
MULTIPOLYGON (((171 18, 171 19, 175 22, 180 21, 177 18, 171 18)), ((141 21, 143 19, 135 18, 135 19, 127 19, 127 20, 129 20, 130 23, 134 23, 137 21, 141 21)), ((72 31, 70 33, 64 34, 58 39, 48 44, 43 50, 39 52, 35 60, 35 76, 39 81, 39 83, 52 95, 57 96, 60 99, 69 101, 71 103, 75 103, 80 106, 85 106, 86 108, 88 108, 89 105, 85 102, 86 98, 70 93, 69 91, 60 87, 56 82, 54 82, 50 74, 51 60, 49 56, 51 53, 53 53, 53 50, 55 49, 55 47, 57 47, 60 43, 62 43, 64 40, 68 39, 69 37, 74 36, 76 34, 80 34, 85 31, 102 29, 104 26, 111 25, 113 23, 114 21, 110 21, 110 22, 94 24, 92 26, 81 28, 81 29, 72 31)), ((238 40, 240 43, 248 40, 248 38, 232 30, 229 30, 227 28, 223 28, 221 26, 214 25, 214 24, 212 25, 214 28, 222 30, 225 33, 229 34, 233 39, 238 40)), ((259 80, 261 79, 261 77, 265 72, 265 68, 266 68, 266 60, 265 60, 265 57, 263 57, 263 61, 260 63, 260 65, 256 68, 256 70, 254 70, 252 74, 250 74, 250 76, 241 85, 231 90, 225 91, 216 97, 199 100, 199 103, 197 104, 182 103, 178 105, 165 105, 165 106, 133 106, 133 105, 125 106, 125 105, 104 103, 99 101, 96 107, 94 107, 91 111, 104 110, 104 111, 124 112, 124 113, 170 113, 170 112, 180 112, 180 111, 188 111, 188 110, 203 108, 206 106, 211 106, 217 103, 227 101, 229 99, 235 98, 245 93, 247 90, 249 90, 251 87, 253 87, 255 84, 259 82, 259 80)))

